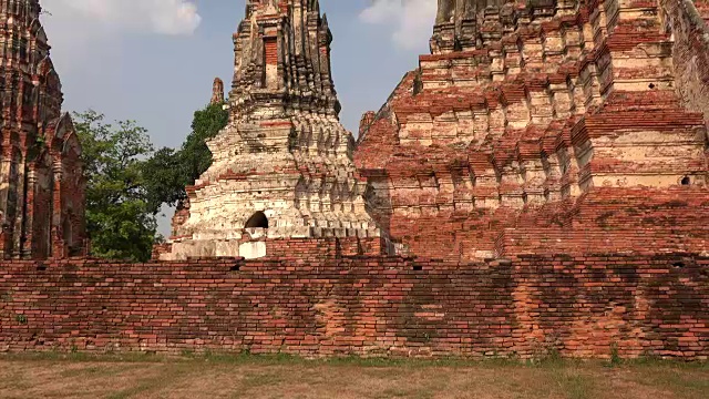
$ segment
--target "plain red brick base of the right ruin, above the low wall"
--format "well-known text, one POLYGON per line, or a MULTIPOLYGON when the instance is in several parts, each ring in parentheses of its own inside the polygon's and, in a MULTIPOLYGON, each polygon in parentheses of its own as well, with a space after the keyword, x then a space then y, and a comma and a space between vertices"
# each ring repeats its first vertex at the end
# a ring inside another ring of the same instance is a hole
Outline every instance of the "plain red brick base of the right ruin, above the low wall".
POLYGON ((709 192, 698 187, 596 190, 563 213, 523 214, 499 236, 495 249, 504 255, 644 253, 648 248, 709 254, 709 192))

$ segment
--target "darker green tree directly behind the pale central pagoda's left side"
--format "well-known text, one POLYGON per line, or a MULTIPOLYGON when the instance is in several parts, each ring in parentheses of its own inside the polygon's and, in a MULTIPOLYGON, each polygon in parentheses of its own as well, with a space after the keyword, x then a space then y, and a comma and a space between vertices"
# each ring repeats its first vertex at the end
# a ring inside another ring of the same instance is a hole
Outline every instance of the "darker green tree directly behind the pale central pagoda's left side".
POLYGON ((210 104, 196 111, 192 132, 179 151, 161 149, 145 163, 145 186, 148 192, 148 208, 157 214, 163 204, 178 205, 187 197, 185 186, 192 185, 212 165, 212 152, 207 140, 223 130, 229 120, 223 103, 210 104))

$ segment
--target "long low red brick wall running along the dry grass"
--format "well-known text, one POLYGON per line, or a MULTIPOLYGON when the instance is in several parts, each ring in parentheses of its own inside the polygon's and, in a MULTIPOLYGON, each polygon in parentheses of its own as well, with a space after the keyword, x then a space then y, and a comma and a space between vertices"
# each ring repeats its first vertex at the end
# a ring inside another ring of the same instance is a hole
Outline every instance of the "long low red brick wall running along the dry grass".
POLYGON ((709 257, 0 266, 0 351, 709 357, 709 257))

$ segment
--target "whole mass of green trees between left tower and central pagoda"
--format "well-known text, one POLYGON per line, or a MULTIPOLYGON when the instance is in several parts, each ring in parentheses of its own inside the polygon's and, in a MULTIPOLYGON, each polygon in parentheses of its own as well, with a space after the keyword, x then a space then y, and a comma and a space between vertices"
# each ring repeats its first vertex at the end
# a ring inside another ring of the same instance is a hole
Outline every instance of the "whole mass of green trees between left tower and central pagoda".
POLYGON ((133 121, 104 122, 95 111, 74 113, 83 146, 88 178, 86 225, 92 255, 145 262, 156 236, 156 215, 163 204, 174 206, 186 197, 212 164, 206 141, 228 121, 222 104, 195 112, 192 133, 178 151, 153 151, 147 131, 133 121))

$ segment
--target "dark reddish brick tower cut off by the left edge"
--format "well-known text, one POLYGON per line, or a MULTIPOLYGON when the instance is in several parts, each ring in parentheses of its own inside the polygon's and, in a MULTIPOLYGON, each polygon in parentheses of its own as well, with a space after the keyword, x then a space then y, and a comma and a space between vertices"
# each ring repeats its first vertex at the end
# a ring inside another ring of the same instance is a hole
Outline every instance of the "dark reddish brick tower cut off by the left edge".
POLYGON ((85 181, 38 0, 0 0, 0 258, 85 253, 85 181))

